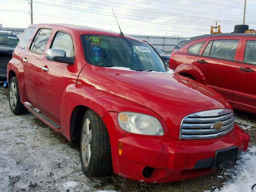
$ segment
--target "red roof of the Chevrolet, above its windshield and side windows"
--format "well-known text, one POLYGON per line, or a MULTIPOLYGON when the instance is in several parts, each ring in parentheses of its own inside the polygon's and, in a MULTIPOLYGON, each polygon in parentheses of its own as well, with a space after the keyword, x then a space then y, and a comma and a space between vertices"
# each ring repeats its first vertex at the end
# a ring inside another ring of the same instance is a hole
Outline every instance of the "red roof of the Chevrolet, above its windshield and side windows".
MULTIPOLYGON (((48 27, 48 28, 64 27, 64 28, 68 28, 70 30, 77 31, 80 35, 82 35, 82 34, 101 34, 101 35, 120 37, 120 34, 117 32, 108 31, 108 30, 99 29, 99 28, 93 28, 90 26, 81 26, 81 25, 72 25, 72 24, 33 24, 33 25, 30 25, 29 27, 38 27, 38 26, 39 27, 48 27)), ((134 38, 134 37, 126 35, 126 34, 124 34, 124 37, 143 42, 140 39, 134 38)))

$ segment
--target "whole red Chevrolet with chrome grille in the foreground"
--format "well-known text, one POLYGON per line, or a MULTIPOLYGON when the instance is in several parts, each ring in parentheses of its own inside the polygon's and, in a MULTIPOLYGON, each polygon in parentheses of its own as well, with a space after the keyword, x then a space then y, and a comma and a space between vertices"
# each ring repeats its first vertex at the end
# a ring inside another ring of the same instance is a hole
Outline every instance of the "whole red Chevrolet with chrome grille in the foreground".
POLYGON ((168 70, 147 43, 64 24, 31 25, 8 63, 10 108, 80 143, 86 176, 201 176, 249 142, 218 93, 168 70))

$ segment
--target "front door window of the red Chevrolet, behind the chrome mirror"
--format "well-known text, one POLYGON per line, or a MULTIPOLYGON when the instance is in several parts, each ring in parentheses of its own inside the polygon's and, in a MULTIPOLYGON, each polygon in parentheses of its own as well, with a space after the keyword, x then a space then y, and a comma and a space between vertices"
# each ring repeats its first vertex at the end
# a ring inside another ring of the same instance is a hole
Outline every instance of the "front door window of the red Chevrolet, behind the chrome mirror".
POLYGON ((52 43, 52 49, 62 49, 66 51, 67 57, 74 58, 74 46, 72 38, 69 34, 57 32, 52 43))

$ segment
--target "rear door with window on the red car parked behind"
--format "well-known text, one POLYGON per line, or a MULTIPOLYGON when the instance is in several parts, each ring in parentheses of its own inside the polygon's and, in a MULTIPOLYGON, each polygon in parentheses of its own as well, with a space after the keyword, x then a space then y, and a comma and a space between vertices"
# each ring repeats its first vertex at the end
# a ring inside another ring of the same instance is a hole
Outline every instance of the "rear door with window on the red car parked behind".
POLYGON ((241 37, 209 38, 193 63, 204 74, 206 85, 222 94, 231 104, 241 44, 241 37))

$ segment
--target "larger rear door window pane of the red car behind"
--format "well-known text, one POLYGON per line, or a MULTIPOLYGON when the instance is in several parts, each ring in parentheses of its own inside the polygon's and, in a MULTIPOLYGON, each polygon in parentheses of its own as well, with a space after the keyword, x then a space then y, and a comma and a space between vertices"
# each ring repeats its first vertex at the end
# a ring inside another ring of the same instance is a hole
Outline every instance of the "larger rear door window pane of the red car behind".
POLYGON ((234 60, 239 40, 214 40, 210 57, 234 60))

